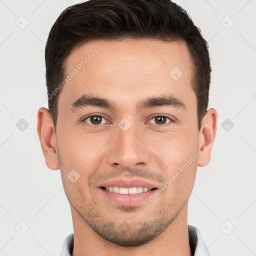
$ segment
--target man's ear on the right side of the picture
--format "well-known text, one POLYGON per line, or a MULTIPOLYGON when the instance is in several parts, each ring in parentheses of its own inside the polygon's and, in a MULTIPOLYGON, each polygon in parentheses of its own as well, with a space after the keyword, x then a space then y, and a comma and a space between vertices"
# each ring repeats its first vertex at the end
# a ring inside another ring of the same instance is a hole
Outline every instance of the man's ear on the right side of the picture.
POLYGON ((198 149, 201 155, 198 157, 197 165, 205 166, 210 161, 210 153, 217 130, 217 111, 209 108, 202 118, 198 138, 198 149))

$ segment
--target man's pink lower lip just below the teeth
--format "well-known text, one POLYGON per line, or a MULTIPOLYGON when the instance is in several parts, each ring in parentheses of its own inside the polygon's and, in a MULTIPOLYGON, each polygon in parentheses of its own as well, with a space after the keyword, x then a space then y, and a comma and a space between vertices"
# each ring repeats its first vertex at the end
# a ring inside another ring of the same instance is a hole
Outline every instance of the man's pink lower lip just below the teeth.
POLYGON ((107 196, 109 199, 114 201, 119 205, 137 205, 138 203, 142 202, 143 200, 148 200, 148 197, 155 193, 155 190, 149 190, 147 192, 137 193, 137 194, 120 194, 115 192, 109 192, 108 190, 100 188, 100 190, 107 196))

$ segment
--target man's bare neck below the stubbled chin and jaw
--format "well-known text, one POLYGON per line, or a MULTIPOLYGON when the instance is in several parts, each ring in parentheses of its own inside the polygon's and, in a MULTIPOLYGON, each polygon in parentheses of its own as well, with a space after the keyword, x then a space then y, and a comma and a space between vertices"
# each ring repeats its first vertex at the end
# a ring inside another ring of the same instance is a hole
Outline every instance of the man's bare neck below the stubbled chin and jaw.
POLYGON ((178 216, 155 239, 138 246, 121 246, 105 240, 92 230, 71 206, 74 228, 72 256, 151 255, 192 256, 187 229, 187 203, 178 216))

